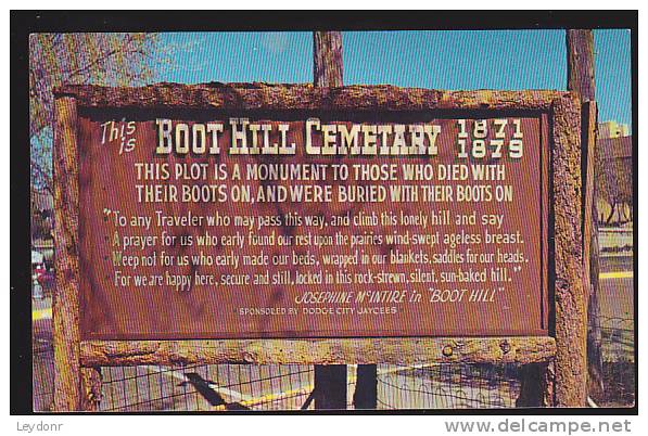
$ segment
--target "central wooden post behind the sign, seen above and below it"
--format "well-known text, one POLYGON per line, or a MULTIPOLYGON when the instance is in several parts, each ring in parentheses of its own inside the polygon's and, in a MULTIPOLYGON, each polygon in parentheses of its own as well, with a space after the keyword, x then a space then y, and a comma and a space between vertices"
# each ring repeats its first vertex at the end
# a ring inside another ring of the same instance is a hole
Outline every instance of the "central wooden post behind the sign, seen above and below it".
MULTIPOLYGON (((342 34, 313 33, 313 81, 316 87, 342 86, 342 34)), ((346 409, 346 366, 315 366, 315 408, 346 409)))

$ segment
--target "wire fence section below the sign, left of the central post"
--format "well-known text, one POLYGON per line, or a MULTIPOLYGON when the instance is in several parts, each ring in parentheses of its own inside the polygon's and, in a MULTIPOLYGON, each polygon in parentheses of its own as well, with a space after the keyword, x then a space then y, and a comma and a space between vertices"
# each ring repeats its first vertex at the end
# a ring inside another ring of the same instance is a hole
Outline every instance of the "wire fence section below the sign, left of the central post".
POLYGON ((202 364, 102 368, 101 411, 298 410, 308 366, 202 364))

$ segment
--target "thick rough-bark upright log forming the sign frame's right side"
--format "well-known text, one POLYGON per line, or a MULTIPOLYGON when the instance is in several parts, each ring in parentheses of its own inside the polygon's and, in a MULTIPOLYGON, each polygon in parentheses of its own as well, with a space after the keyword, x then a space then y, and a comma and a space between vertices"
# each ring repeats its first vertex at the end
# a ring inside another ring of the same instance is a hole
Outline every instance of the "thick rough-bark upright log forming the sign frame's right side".
POLYGON ((583 285, 581 106, 574 98, 554 102, 554 402, 585 407, 587 398, 587 295, 583 285))

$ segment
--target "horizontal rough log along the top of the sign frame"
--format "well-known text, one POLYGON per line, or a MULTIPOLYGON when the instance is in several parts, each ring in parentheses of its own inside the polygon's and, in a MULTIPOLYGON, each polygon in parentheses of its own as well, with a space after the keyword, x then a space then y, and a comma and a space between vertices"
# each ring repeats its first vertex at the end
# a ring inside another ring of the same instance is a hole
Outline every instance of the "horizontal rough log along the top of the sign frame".
POLYGON ((316 88, 313 85, 158 84, 141 88, 64 86, 54 95, 73 95, 84 107, 217 110, 511 110, 543 111, 563 91, 442 91, 394 86, 316 88))

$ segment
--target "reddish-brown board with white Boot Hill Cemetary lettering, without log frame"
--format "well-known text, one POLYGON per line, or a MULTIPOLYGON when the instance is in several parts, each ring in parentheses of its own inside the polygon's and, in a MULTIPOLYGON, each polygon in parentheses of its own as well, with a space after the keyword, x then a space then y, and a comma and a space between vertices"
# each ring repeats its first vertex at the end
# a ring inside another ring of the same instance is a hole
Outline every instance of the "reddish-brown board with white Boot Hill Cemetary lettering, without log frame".
POLYGON ((78 118, 81 334, 547 333, 546 117, 78 118))

